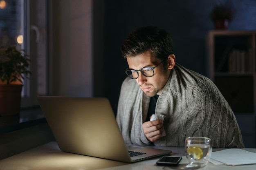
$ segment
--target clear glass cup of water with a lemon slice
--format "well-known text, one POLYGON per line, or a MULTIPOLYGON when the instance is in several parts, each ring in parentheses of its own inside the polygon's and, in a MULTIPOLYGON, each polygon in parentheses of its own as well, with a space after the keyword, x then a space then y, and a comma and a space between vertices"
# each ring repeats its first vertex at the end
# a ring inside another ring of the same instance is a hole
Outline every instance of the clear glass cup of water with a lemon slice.
POLYGON ((188 137, 185 140, 187 167, 204 167, 211 157, 211 139, 207 137, 188 137))

